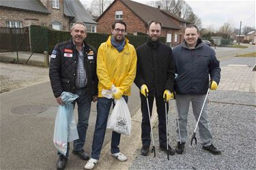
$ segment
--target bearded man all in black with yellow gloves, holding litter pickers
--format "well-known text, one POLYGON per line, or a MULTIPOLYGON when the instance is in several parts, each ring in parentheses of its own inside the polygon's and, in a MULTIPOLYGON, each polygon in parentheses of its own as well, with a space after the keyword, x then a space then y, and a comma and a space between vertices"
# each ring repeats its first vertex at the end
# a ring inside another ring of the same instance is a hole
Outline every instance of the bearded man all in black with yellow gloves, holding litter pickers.
MULTIPOLYGON (((168 154, 175 154, 169 146, 167 150, 167 129, 165 119, 165 96, 167 101, 173 98, 173 85, 175 76, 175 63, 169 46, 159 41, 162 24, 151 21, 148 24, 147 42, 137 48, 137 75, 134 83, 141 90, 141 154, 147 156, 150 148, 150 118, 147 110, 146 92, 152 116, 153 101, 156 99, 158 113, 158 133, 160 149, 168 154), (145 92, 146 91, 146 92, 145 92)), ((167 112, 168 112, 167 104, 167 112)))

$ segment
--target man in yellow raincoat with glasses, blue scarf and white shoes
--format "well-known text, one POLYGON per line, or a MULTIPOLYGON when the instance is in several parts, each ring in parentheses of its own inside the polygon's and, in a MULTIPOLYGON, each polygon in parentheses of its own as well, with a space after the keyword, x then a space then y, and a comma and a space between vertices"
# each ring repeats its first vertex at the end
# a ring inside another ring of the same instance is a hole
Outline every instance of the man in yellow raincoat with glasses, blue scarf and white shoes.
MULTIPOLYGON (((98 49, 97 75, 98 103, 97 120, 94 130, 94 140, 91 150, 91 158, 85 165, 85 169, 93 169, 100 158, 100 151, 106 132, 106 122, 109 110, 114 99, 124 97, 126 103, 132 82, 136 75, 137 55, 134 46, 128 43, 125 37, 126 23, 117 20, 112 25, 112 35, 106 42, 102 43, 98 49), (109 99, 102 95, 102 90, 109 90, 114 99, 109 99)), ((111 139, 111 154, 117 160, 125 161, 126 156, 119 150, 121 134, 113 131, 111 139)))

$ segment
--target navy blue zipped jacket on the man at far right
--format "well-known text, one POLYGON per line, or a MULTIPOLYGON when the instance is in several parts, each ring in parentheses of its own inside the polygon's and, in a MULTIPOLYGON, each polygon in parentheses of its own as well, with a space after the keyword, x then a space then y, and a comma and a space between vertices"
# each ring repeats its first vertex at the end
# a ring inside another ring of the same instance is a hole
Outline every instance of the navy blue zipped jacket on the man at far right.
POLYGON ((173 48, 177 78, 175 92, 180 95, 205 95, 210 80, 217 84, 221 79, 219 61, 212 48, 198 39, 195 49, 186 46, 186 42, 173 48))

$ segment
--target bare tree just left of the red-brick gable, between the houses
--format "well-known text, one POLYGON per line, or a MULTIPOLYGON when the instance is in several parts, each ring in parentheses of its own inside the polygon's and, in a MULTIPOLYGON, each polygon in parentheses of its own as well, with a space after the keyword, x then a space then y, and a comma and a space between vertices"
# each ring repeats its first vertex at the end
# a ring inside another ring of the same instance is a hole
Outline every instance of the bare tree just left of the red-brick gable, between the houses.
POLYGON ((113 0, 94 0, 91 2, 91 12, 94 16, 100 16, 113 0))

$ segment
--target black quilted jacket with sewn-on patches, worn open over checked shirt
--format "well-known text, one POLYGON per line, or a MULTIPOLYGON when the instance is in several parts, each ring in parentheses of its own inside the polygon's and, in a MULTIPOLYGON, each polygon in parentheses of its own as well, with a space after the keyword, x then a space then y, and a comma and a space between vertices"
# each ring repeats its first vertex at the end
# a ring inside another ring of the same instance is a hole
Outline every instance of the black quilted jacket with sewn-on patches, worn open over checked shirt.
MULTIPOLYGON (((93 46, 84 41, 84 64, 87 75, 87 94, 98 95, 98 78, 96 75, 97 52, 93 46)), ((72 39, 57 44, 51 54, 49 76, 55 97, 63 91, 75 93, 76 72, 79 52, 72 39)))

